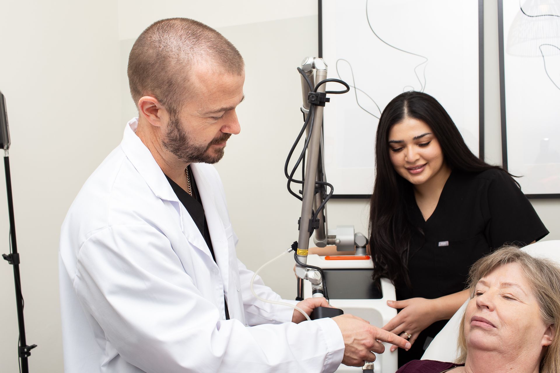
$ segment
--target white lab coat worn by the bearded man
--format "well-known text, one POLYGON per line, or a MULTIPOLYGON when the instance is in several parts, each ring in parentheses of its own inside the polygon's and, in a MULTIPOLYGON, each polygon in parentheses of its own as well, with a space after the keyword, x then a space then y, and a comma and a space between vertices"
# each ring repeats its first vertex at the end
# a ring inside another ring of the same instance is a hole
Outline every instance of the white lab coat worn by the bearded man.
MULTIPOLYGON (((344 343, 332 319, 293 324, 293 309, 251 294, 216 169, 192 164, 217 263, 136 126, 127 124, 62 225, 66 372, 336 370, 344 343)), ((260 278, 255 290, 280 299, 260 278)))

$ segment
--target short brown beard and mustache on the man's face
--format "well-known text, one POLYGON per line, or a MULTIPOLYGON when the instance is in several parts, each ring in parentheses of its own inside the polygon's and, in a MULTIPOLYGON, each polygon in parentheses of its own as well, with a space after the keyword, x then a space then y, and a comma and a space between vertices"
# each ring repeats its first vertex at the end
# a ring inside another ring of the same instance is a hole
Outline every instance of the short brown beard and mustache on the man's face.
POLYGON ((210 147, 224 143, 230 136, 231 134, 223 134, 219 138, 210 141, 208 145, 196 145, 193 138, 186 134, 179 118, 171 115, 166 138, 162 141, 162 145, 185 163, 213 164, 222 159, 224 147, 217 148, 214 154, 209 152, 210 147))

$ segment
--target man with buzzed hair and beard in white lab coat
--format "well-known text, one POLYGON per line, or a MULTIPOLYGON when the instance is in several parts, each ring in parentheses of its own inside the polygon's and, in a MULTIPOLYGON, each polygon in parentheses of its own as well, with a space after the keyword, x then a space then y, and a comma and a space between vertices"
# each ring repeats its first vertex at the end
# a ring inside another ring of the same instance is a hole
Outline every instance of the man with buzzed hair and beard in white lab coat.
MULTIPOLYGON (((128 77, 138 118, 62 226, 67 372, 332 372, 374 360, 378 341, 410 347, 352 315, 303 322, 251 294, 211 166, 240 131, 244 63, 229 41, 186 18, 155 22, 128 77)), ((281 301, 259 277, 254 290, 281 301)), ((297 305, 310 314, 328 303, 297 305)))

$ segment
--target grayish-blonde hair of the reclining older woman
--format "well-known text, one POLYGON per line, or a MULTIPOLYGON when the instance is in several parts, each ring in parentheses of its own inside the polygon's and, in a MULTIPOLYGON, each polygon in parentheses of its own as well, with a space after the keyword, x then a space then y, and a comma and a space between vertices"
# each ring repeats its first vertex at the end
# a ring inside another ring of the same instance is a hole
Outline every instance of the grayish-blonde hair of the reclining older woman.
MULTIPOLYGON (((539 304, 540 318, 545 324, 554 327, 552 344, 547 347, 540 361, 540 373, 560 372, 560 267, 557 263, 543 258, 535 258, 516 246, 504 246, 487 256, 480 258, 469 271, 470 299, 474 298, 474 290, 480 278, 488 275, 495 268, 508 263, 517 263, 525 274, 525 278, 533 290, 539 304)), ((466 360, 465 314, 459 328, 458 362, 466 360)))

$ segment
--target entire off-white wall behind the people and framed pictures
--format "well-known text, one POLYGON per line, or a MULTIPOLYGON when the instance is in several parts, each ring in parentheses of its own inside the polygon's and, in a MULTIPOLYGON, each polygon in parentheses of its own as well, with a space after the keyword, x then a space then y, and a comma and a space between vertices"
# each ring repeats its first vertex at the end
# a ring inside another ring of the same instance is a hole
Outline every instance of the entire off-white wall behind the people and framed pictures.
MULTIPOLYGON (((256 270, 297 239, 300 204, 288 195, 282 170, 301 126, 296 67, 317 53, 316 2, 239 3, 170 0, 158 2, 159 8, 146 0, 3 3, 0 89, 7 96, 12 135, 27 341, 39 345, 29 360, 31 371, 62 371, 59 227, 83 182, 119 143, 125 121, 136 115, 127 91, 128 51, 152 21, 195 18, 222 32, 245 58, 247 98, 238 113, 242 131, 228 141, 226 156, 217 164, 240 238, 239 257, 256 270)), ((500 164, 496 3, 484 1, 485 132, 487 160, 500 164)), ((0 232, 5 232, 0 253, 7 253, 2 196, 0 182, 0 232)), ((552 232, 546 239, 560 239, 560 201, 531 202, 552 232)), ((367 208, 367 201, 332 200, 329 223, 354 224, 366 233, 367 208)), ((292 266, 285 258, 263 275, 286 298, 295 296, 292 266)), ((0 371, 12 372, 17 371, 17 317, 12 267, 3 261, 0 285, 0 371)))

